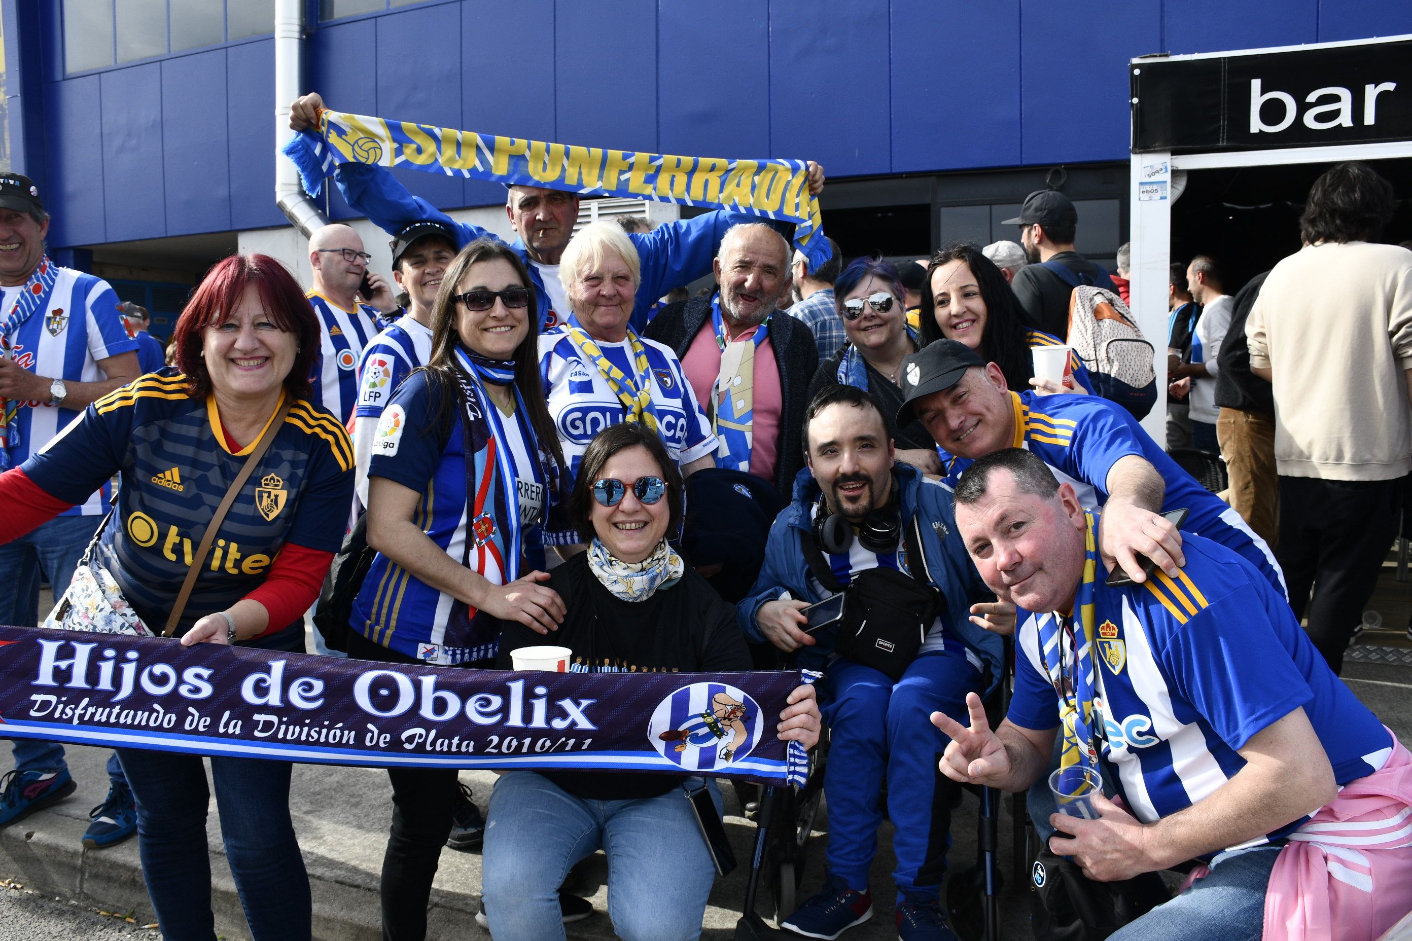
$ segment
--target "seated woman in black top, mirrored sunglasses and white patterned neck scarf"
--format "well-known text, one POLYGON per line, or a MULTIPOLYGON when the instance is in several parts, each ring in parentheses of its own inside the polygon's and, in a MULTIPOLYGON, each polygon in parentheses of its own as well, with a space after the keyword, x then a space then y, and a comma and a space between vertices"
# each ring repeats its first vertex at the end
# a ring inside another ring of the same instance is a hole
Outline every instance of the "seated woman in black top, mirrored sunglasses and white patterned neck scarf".
MULTIPOLYGON (((549 580, 568 607, 554 643, 573 652, 572 670, 753 669, 736 609, 666 543, 682 515, 682 478, 657 435, 626 422, 600 432, 583 453, 569 506, 578 529, 592 535, 587 552, 549 580)), ((511 650, 541 642, 532 631, 508 625, 498 664, 511 669, 511 650)), ((812 748, 820 722, 813 687, 798 687, 789 703, 779 714, 779 738, 812 748)), ((738 707, 713 704, 726 727, 720 748, 730 748, 729 724, 738 707)), ((600 848, 609 861, 609 914, 617 937, 700 937, 716 870, 683 783, 705 784, 720 813, 716 783, 699 777, 534 770, 501 776, 486 818, 483 882, 496 941, 563 938, 555 890, 573 863, 600 848)))

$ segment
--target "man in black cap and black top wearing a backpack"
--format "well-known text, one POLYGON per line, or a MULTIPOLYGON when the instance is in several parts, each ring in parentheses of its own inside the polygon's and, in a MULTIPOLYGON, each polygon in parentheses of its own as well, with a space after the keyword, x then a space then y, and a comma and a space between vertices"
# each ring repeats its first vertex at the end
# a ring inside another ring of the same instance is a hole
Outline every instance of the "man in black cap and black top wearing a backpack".
POLYGON ((1019 214, 1001 226, 1019 226, 1029 261, 1010 282, 1031 326, 1056 337, 1069 336, 1069 296, 1079 285, 1117 292, 1108 272, 1073 250, 1079 210, 1053 189, 1025 196, 1019 214))

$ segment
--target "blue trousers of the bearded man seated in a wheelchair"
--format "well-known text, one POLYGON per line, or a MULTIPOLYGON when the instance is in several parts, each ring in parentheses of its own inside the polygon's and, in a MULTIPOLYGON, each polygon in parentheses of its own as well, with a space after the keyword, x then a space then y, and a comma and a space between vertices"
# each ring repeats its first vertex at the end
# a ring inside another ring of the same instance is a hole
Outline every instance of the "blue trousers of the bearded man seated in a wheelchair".
POLYGON ((935 901, 946 875, 955 786, 938 770, 950 739, 929 717, 945 712, 967 722, 966 694, 980 690, 980 673, 960 652, 923 653, 894 684, 887 674, 840 657, 829 664, 825 684, 823 721, 832 735, 823 772, 829 872, 850 889, 867 890, 885 773, 897 899, 935 901))

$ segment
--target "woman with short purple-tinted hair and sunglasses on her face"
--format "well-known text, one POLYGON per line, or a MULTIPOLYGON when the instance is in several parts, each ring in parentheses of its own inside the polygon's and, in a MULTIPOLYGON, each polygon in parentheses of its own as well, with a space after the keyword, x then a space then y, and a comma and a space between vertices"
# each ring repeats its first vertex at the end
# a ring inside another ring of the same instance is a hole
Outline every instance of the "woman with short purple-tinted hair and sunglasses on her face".
POLYGON ((897 268, 880 257, 857 258, 834 281, 833 296, 849 343, 819 364, 809 382, 809 401, 829 385, 867 391, 887 419, 897 460, 925 474, 940 474, 936 442, 926 427, 916 420, 904 427, 894 422, 902 405, 902 363, 918 348, 916 334, 907 326, 907 289, 897 268))

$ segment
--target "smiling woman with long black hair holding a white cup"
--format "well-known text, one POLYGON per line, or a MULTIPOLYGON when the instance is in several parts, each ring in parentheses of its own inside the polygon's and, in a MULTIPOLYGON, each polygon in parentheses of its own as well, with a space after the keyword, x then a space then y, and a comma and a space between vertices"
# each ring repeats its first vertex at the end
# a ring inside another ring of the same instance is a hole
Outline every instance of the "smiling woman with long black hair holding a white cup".
POLYGON ((964 343, 1005 374, 1015 392, 1029 387, 1043 395, 1093 394, 1089 370, 1076 353, 1069 354, 1072 385, 1036 380, 1029 351, 1065 346, 1059 337, 1031 330, 1019 319, 1019 305, 995 262, 970 243, 956 243, 932 255, 922 291, 922 346, 946 337, 964 343))

